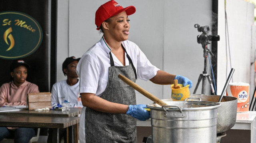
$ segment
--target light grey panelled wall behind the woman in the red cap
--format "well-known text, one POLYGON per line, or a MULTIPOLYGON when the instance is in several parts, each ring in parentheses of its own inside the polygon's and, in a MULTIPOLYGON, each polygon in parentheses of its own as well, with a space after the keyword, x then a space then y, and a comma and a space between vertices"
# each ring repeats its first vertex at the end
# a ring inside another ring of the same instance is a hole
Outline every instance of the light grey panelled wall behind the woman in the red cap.
MULTIPOLYGON (((94 24, 94 16, 104 2, 70 0, 69 56, 81 57, 82 53, 101 38, 102 35, 98 33, 94 24)), ((136 7, 136 13, 129 16, 129 40, 134 41, 142 49, 153 65, 172 74, 190 78, 194 82, 190 92, 194 91, 204 67, 203 49, 196 41, 197 35, 201 33, 194 28, 194 24, 211 26, 211 3, 211 0, 119 2, 123 7, 136 7)), ((160 99, 170 98, 171 90, 168 85, 161 86, 143 80, 136 83, 160 99)), ((197 93, 201 93, 201 86, 200 84, 197 93)), ((140 93, 136 94, 138 104, 152 102, 140 93)))

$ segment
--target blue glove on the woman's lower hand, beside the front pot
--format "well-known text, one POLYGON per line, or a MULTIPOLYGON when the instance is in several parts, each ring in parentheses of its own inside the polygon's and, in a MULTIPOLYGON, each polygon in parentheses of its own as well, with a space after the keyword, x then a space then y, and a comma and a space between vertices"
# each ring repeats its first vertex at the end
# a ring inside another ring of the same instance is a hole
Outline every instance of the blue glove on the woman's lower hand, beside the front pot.
POLYGON ((137 118, 140 121, 146 121, 146 119, 150 118, 150 112, 148 112, 144 108, 147 108, 147 106, 144 104, 129 105, 129 109, 126 114, 137 118))

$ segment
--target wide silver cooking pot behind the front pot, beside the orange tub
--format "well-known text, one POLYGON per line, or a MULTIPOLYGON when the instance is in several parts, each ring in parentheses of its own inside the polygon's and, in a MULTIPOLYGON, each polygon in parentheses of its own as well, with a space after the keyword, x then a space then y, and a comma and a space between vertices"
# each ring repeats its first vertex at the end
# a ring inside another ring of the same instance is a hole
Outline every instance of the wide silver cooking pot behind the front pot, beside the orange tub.
MULTIPOLYGON (((218 102, 219 95, 192 94, 190 98, 200 98, 202 101, 218 102)), ((218 108, 217 133, 222 133, 231 129, 236 123, 237 98, 232 96, 223 96, 221 107, 218 108)))

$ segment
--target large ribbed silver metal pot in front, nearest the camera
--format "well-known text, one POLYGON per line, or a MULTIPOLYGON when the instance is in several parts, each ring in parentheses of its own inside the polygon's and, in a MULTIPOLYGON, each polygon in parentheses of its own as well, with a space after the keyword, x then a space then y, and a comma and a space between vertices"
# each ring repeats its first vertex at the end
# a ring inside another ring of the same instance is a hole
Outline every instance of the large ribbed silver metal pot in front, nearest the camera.
POLYGON ((150 108, 153 143, 216 143, 217 108, 220 103, 162 100, 150 108))

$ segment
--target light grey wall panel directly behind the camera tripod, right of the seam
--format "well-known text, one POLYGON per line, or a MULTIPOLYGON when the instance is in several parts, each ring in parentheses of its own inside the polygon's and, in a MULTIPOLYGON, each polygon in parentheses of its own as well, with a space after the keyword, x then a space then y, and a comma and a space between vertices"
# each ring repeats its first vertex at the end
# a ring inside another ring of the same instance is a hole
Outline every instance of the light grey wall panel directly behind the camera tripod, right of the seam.
MULTIPOLYGON (((193 82, 194 92, 198 77, 204 71, 203 48, 197 43, 202 34, 194 27, 212 25, 212 0, 166 0, 164 4, 164 70, 188 77, 193 82)), ((211 45, 208 45, 211 49, 211 45)), ((208 73, 211 70, 208 62, 208 73)), ((206 94, 210 84, 206 81, 206 94)), ((170 86, 163 86, 164 99, 170 98, 170 86)), ((201 94, 202 81, 197 94, 201 94)))

